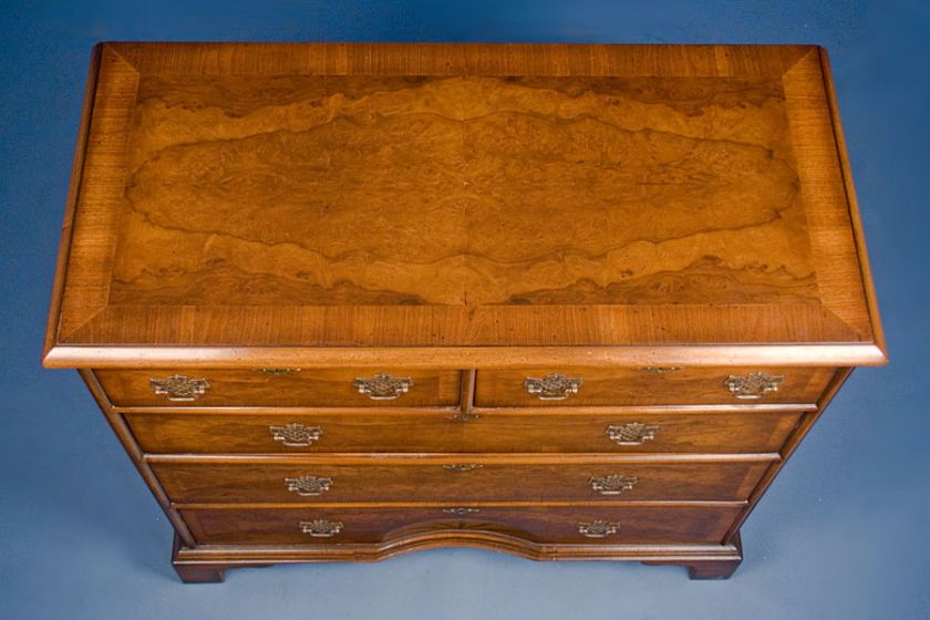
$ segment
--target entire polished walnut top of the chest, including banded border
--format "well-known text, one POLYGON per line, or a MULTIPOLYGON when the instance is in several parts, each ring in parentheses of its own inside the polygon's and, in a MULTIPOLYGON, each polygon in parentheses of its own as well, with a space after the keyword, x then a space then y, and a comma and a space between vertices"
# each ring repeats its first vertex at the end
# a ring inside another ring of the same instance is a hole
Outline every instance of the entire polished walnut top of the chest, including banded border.
POLYGON ((884 358, 818 48, 102 44, 85 107, 50 365, 884 358))

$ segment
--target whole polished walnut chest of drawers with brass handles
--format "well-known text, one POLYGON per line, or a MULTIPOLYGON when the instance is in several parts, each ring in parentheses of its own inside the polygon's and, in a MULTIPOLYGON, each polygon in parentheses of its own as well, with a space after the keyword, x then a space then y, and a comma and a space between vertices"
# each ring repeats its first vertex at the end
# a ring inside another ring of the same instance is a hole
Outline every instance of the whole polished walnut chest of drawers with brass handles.
POLYGON ((819 48, 94 52, 44 363, 185 581, 442 546, 728 577, 885 361, 819 48))

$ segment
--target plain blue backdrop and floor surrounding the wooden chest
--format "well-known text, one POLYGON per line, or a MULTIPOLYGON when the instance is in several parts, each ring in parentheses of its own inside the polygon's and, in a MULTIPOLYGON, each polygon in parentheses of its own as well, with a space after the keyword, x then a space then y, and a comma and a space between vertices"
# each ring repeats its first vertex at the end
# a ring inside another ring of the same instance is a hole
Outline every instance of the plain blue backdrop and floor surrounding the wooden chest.
POLYGON ((0 2, 0 618, 930 617, 930 9, 920 3, 0 2), (892 363, 854 373, 743 528, 730 581, 479 550, 182 586, 170 528, 74 372, 40 369, 101 40, 819 43, 892 363))

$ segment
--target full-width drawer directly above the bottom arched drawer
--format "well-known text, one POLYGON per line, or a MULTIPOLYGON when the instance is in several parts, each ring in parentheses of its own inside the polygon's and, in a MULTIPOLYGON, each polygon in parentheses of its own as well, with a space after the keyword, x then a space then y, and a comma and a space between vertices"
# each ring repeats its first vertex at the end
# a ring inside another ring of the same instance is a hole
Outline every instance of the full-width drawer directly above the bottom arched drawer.
MULTIPOLYGON (((650 458, 650 457, 645 457, 650 458)), ((258 463, 155 462, 176 504, 307 502, 744 500, 772 463, 702 459, 657 463, 587 456, 540 462, 450 456, 314 457, 258 463)))

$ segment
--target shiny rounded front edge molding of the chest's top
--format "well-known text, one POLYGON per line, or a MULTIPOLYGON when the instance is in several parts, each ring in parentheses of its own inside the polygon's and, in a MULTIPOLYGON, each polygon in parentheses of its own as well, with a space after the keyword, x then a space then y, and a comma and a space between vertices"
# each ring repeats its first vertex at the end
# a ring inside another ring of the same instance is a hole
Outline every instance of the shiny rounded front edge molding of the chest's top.
MULTIPOLYGON (((751 317, 745 317, 750 320, 751 317)), ((421 369, 523 369, 548 360, 556 366, 616 365, 882 365, 884 350, 871 344, 695 344, 669 347, 95 347, 59 345, 42 361, 45 368, 175 369, 392 365, 421 369)))

